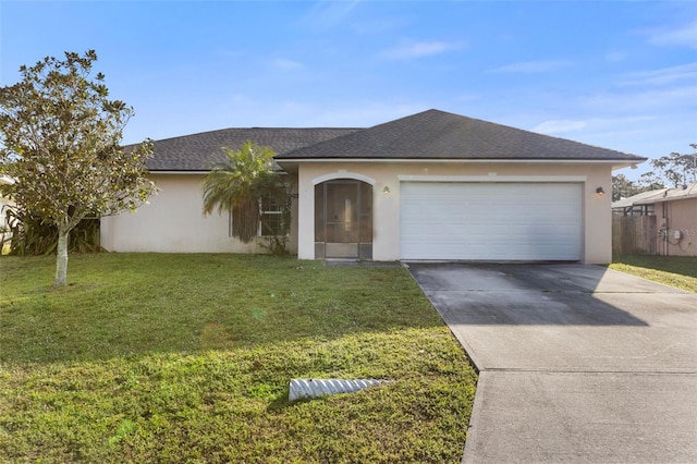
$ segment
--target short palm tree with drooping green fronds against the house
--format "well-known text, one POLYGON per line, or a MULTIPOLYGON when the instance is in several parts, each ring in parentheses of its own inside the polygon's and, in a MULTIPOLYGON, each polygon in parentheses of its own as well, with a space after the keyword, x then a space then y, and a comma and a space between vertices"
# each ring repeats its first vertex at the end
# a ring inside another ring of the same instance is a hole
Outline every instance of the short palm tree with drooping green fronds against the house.
POLYGON ((276 154, 270 147, 246 142, 239 151, 223 149, 228 162, 216 166, 204 180, 204 215, 216 209, 230 212, 232 235, 249 243, 262 219, 262 200, 271 198, 290 211, 290 195, 273 170, 276 154))

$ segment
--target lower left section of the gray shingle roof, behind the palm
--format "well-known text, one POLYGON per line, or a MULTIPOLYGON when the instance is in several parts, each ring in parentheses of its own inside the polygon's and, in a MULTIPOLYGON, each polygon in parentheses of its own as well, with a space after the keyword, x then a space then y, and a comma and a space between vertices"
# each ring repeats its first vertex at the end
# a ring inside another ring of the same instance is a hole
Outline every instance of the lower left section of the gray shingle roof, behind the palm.
POLYGON ((269 146, 282 155, 308 145, 355 132, 356 129, 223 129, 154 143, 154 156, 148 159, 149 171, 210 171, 225 161, 223 147, 240 149, 252 141, 269 146))

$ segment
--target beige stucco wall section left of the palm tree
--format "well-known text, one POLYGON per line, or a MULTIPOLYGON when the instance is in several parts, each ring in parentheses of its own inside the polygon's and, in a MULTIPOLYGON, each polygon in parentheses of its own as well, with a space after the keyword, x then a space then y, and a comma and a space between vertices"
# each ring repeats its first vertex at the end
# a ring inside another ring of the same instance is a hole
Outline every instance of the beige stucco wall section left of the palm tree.
MULTIPOLYGON (((258 241, 229 235, 227 212, 204 217, 204 174, 152 174, 160 192, 134 212, 102 218, 101 245, 110 252, 264 253, 258 241)), ((259 239, 260 240, 260 239, 259 239)))

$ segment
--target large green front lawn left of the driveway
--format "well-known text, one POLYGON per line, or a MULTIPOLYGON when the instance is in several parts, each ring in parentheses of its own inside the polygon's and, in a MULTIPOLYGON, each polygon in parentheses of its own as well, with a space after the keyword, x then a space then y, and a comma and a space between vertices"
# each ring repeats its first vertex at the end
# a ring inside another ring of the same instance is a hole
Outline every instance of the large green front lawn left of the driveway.
POLYGON ((0 462, 456 463, 476 374, 402 268, 0 258, 0 462), (289 403, 291 378, 382 378, 289 403))

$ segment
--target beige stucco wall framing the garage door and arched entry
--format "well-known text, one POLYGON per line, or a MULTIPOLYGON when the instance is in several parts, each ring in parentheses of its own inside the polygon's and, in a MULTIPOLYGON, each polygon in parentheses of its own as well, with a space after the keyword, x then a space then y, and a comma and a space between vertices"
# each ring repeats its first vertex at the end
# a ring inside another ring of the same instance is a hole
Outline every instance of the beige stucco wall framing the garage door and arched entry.
MULTIPOLYGON (((298 244, 301 259, 315 258, 314 186, 329 179, 362 179, 374 185, 374 241, 375 260, 400 259, 400 179, 408 176, 486 178, 487 182, 516 179, 517 182, 553 182, 573 179, 583 190, 583 260, 587 264, 606 264, 612 259, 611 234, 611 167, 589 163, 475 163, 475 162, 304 162, 298 167, 298 244), (388 186, 389 194, 383 193, 388 186), (596 194, 602 186, 606 195, 596 194)), ((530 205, 535 207, 535 205, 530 205)))

